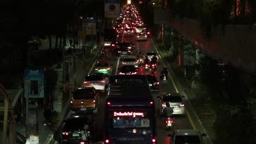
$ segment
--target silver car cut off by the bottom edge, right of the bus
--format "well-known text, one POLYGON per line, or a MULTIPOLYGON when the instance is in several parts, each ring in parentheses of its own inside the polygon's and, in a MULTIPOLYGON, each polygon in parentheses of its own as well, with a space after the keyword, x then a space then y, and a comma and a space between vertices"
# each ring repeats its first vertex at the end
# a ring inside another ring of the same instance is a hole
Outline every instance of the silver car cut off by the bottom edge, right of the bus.
POLYGON ((171 144, 186 144, 186 143, 195 143, 202 144, 203 136, 206 134, 202 134, 197 129, 176 129, 173 133, 168 134, 167 136, 171 137, 171 144))

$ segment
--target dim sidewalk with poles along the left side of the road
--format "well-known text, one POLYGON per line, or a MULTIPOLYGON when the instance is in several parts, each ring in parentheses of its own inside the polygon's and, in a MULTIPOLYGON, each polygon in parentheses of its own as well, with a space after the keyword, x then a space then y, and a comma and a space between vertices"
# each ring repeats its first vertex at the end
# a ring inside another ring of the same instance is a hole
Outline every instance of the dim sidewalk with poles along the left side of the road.
MULTIPOLYGON (((69 47, 69 37, 67 35, 67 45, 65 46, 65 50, 69 47)), ((84 80, 84 75, 87 75, 89 73, 90 68, 92 67, 91 61, 95 61, 96 59, 96 53, 98 51, 102 50, 102 42, 101 44, 95 45, 94 49, 92 49, 91 53, 85 53, 85 59, 84 63, 82 62, 82 57, 79 55, 79 52, 75 55, 75 69, 74 69, 74 58, 72 55, 66 55, 65 60, 71 62, 70 68, 69 68, 69 92, 73 91, 75 86, 80 86, 84 80)), ((52 44, 53 49, 55 46, 55 40, 52 38, 52 44)), ((48 39, 45 39, 43 41, 43 44, 39 47, 39 50, 47 50, 49 47, 48 39)), ((82 47, 81 47, 82 48, 82 47)), ((38 107, 38 133, 39 133, 39 143, 50 143, 51 140, 53 140, 54 133, 56 132, 57 128, 59 128, 61 122, 63 121, 63 117, 65 116, 67 109, 69 107, 69 99, 71 98, 71 94, 67 94, 67 98, 63 98, 62 94, 62 66, 57 69, 57 64, 53 65, 51 67, 55 69, 59 75, 57 79, 57 85, 56 90, 54 93, 54 104, 53 104, 53 111, 60 112, 59 118, 57 118, 56 123, 47 124, 44 125, 44 106, 38 107)), ((23 110, 26 110, 25 107, 23 110)), ((16 141, 24 141, 26 136, 26 113, 24 112, 24 115, 21 117, 20 123, 16 123, 16 141)), ((18 142, 16 142, 18 143, 18 142)), ((19 142, 24 143, 24 142, 19 142)))

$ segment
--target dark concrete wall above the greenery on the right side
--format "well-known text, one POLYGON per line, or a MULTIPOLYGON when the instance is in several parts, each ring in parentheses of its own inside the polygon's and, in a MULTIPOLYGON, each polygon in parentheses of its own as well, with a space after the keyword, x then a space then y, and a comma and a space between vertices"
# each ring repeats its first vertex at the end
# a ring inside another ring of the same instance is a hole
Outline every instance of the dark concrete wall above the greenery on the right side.
POLYGON ((193 19, 172 20, 171 25, 201 47, 208 56, 223 63, 256 73, 256 25, 212 26, 212 36, 204 39, 199 22, 193 19))

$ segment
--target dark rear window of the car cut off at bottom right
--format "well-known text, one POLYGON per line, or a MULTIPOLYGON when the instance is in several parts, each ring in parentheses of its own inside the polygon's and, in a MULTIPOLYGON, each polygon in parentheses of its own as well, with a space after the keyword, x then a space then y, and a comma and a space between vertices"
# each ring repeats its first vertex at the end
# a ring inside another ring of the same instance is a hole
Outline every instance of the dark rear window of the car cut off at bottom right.
POLYGON ((176 136, 175 143, 201 143, 199 136, 191 135, 191 136, 176 136))

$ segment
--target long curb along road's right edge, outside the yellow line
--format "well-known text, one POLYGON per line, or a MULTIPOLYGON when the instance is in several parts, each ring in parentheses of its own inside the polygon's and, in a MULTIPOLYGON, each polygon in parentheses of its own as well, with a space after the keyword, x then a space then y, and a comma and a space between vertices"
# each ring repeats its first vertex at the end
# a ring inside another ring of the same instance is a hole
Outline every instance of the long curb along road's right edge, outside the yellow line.
MULTIPOLYGON (((162 54, 162 51, 158 48, 158 47, 159 47, 158 44, 155 43, 155 41, 154 41, 152 38, 150 38, 150 39, 151 39, 152 42, 155 44, 156 49, 159 51, 159 53, 160 53, 161 56, 163 57, 164 55, 162 54)), ((162 61, 163 61, 163 60, 164 60, 164 59, 162 59, 162 61)), ((171 65, 170 65, 168 62, 165 61, 165 64, 167 64, 168 68, 171 68, 171 65)), ((188 95, 185 93, 184 89, 182 88, 181 83, 179 83, 179 81, 176 79, 176 76, 175 76, 175 74, 174 74, 172 68, 169 70, 169 72, 170 72, 171 75, 173 76, 172 78, 174 79, 175 84, 179 87, 179 91, 180 91, 181 93, 183 93, 183 95, 184 95, 185 98, 187 99, 188 104, 189 104, 190 107, 191 107, 191 112, 192 112, 193 115, 196 117, 197 122, 199 123, 201 129, 203 130, 203 133, 207 133, 206 129, 205 129, 205 128, 203 127, 203 125, 202 125, 201 119, 199 118, 199 116, 197 115, 197 113, 196 113, 196 111, 195 111, 193 105, 191 104, 191 102, 190 102, 190 100, 189 100, 189 98, 188 98, 188 95)), ((209 135, 206 135, 206 137, 207 137, 208 140, 210 141, 210 144, 213 144, 211 137, 210 137, 209 135)))

